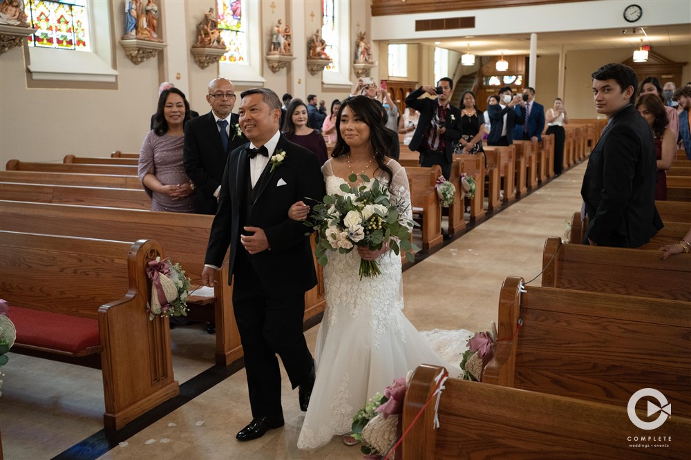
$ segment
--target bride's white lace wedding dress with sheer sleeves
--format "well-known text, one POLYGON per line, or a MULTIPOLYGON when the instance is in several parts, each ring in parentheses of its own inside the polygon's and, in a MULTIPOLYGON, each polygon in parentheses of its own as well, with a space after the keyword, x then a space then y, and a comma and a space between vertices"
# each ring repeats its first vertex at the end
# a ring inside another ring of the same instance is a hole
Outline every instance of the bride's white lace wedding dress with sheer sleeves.
MULTIPOLYGON (((392 198, 399 200, 401 219, 410 220, 406 170, 394 160, 388 166, 393 171, 392 198)), ((342 193, 339 186, 345 180, 334 176, 331 160, 322 172, 326 192, 342 193)), ((379 181, 386 185, 386 178, 379 181)), ((352 417, 366 401, 409 370, 423 363, 450 366, 401 311, 400 256, 392 251, 380 256, 381 274, 362 280, 357 250, 330 252, 328 258, 324 267, 327 307, 316 338, 316 382, 298 439, 301 449, 319 448, 335 435, 350 432, 352 417)), ((455 340, 448 342, 453 347, 455 340)), ((460 349, 464 345, 465 341, 460 343, 460 349)), ((456 367, 458 362, 460 356, 456 367)))

